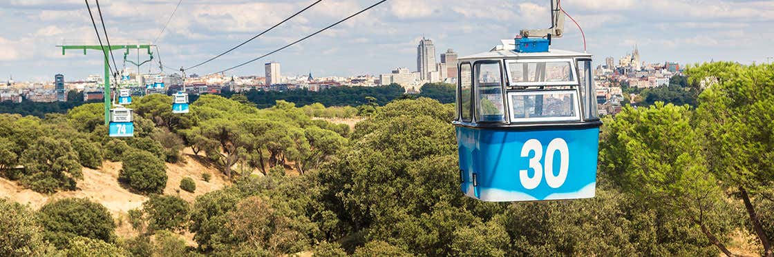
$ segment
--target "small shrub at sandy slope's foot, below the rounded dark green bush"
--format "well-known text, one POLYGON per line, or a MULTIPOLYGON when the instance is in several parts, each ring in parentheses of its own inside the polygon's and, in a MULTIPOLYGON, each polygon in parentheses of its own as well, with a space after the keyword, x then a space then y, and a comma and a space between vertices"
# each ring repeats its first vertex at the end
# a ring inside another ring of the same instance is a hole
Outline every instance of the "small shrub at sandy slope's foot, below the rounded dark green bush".
POLYGON ((148 201, 142 203, 142 209, 148 215, 150 231, 175 230, 185 227, 190 205, 174 195, 151 194, 148 201))

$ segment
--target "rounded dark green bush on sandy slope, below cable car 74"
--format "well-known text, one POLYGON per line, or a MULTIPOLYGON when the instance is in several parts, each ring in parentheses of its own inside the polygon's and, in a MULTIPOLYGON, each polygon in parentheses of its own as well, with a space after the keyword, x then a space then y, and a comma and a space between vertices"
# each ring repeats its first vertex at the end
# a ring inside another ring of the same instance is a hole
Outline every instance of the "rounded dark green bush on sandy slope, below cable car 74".
POLYGON ((161 193, 166 187, 166 166, 145 150, 130 150, 118 172, 118 181, 142 193, 161 193))

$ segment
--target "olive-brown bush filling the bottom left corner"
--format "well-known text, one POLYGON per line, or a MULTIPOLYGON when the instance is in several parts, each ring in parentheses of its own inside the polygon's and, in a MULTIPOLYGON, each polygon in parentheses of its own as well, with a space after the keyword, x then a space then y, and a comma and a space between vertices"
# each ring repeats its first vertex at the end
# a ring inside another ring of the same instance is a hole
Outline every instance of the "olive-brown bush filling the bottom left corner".
POLYGON ((33 211, 0 198, 0 255, 39 256, 52 252, 33 211))

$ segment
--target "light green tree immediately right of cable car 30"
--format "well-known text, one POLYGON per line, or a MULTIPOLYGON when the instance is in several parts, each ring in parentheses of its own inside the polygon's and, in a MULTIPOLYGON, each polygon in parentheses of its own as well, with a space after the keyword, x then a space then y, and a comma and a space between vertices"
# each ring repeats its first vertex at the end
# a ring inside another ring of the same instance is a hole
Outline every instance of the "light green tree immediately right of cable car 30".
POLYGON ((601 171, 659 212, 684 217, 724 254, 728 204, 708 171, 689 107, 625 107, 604 120, 601 171), (720 228, 718 228, 720 227, 720 228))

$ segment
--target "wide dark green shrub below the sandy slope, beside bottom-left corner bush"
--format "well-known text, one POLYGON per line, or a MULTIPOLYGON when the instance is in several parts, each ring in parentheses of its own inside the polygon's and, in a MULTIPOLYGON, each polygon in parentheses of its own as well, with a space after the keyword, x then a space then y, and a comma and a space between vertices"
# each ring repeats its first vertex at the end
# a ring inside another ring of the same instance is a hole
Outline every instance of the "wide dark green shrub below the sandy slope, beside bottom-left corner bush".
POLYGON ((83 236, 112 242, 115 224, 104 206, 80 198, 65 198, 43 205, 37 216, 43 225, 43 237, 59 248, 70 239, 83 236))

